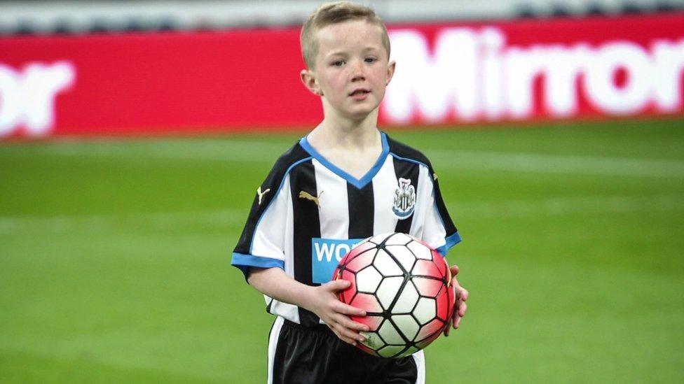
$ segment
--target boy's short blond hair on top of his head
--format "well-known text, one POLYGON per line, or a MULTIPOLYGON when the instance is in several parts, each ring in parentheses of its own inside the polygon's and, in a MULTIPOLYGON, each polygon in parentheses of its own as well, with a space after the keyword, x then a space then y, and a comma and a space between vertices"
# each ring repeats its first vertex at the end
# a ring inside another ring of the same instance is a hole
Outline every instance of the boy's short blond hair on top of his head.
POLYGON ((387 27, 385 27, 385 22, 375 13, 373 8, 351 3, 350 1, 324 3, 309 15, 301 27, 301 34, 299 36, 301 54, 309 69, 314 68, 315 58, 318 54, 316 32, 331 24, 338 24, 349 20, 366 20, 380 27, 383 34, 383 47, 387 50, 388 57, 390 56, 390 36, 388 36, 387 27))

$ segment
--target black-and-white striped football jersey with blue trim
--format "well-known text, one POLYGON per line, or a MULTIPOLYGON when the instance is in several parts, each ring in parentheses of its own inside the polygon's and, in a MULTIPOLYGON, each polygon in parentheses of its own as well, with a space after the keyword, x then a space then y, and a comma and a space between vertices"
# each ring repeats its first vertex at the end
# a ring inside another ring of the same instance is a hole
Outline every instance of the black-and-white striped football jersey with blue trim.
MULTIPOLYGON (((306 137, 282 155, 257 189, 231 264, 278 267, 300 283, 331 280, 338 262, 370 236, 403 232, 446 255, 460 235, 437 176, 417 150, 381 132, 383 149, 360 179, 327 161, 306 137)), ((264 295, 269 313, 302 325, 310 311, 264 295)))

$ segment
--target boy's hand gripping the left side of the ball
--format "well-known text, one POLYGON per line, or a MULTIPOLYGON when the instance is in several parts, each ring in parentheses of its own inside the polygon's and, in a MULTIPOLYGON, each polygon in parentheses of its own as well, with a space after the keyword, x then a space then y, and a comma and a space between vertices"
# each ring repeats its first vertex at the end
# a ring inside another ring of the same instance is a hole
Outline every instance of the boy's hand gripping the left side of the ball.
POLYGON ((357 341, 364 341, 359 331, 368 331, 369 328, 349 318, 350 315, 365 316, 365 311, 344 304, 337 298, 335 292, 346 290, 349 284, 347 280, 333 280, 320 287, 311 287, 307 309, 321 318, 342 341, 355 346, 357 341))

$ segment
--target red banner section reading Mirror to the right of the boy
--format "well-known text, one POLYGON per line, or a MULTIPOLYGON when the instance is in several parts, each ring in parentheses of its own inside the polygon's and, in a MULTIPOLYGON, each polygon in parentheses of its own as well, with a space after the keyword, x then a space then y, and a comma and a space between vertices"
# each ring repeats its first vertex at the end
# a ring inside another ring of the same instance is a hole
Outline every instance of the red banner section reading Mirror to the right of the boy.
POLYGON ((392 124, 684 111, 684 15, 392 29, 392 124), (405 68, 405 71, 402 71, 405 68))

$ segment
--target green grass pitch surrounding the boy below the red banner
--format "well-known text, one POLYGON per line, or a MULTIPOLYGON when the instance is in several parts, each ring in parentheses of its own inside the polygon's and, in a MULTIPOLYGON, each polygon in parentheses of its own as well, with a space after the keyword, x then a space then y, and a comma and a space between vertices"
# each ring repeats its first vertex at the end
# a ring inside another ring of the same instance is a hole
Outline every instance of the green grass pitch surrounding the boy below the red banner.
MULTIPOLYGON (((464 239, 427 382, 683 382, 684 121, 514 128, 388 131, 464 239)), ((300 135, 0 145, 0 382, 264 383, 230 254, 300 135)))

